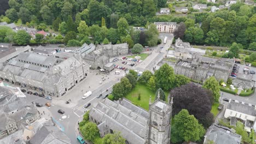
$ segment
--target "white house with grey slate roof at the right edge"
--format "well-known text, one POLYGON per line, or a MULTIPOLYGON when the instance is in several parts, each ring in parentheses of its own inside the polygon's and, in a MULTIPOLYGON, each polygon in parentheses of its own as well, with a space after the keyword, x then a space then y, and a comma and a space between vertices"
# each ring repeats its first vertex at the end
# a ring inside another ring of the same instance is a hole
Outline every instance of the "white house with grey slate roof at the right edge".
POLYGON ((229 105, 226 107, 225 118, 230 119, 230 125, 236 125, 236 122, 242 121, 245 124, 245 130, 251 132, 251 128, 256 130, 256 107, 251 104, 245 104, 237 100, 229 100, 229 105))

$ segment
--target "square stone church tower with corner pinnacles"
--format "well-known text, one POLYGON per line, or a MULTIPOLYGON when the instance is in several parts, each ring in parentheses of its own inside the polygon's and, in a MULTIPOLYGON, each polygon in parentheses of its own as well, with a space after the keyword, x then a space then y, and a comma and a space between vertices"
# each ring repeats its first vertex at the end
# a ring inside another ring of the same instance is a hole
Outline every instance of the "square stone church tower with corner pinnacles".
POLYGON ((149 101, 149 119, 146 135, 146 144, 169 144, 171 135, 171 115, 172 115, 172 100, 171 104, 165 103, 158 98, 151 104, 149 101))

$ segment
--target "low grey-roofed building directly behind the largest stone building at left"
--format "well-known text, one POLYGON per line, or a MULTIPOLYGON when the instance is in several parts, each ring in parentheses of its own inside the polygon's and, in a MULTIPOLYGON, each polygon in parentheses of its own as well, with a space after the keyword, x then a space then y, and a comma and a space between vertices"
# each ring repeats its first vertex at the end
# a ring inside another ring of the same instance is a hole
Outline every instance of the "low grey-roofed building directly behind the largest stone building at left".
POLYGON ((44 56, 53 56, 55 53, 60 51, 60 47, 44 47, 42 45, 39 45, 33 50, 34 53, 44 56))

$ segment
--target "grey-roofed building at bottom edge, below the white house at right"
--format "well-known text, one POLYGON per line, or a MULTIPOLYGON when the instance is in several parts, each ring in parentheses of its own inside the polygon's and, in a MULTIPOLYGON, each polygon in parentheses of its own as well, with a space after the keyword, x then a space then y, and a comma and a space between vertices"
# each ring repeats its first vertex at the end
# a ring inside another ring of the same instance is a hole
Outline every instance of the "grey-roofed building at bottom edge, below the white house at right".
POLYGON ((212 124, 206 131, 203 143, 208 144, 212 141, 215 144, 240 144, 241 140, 242 136, 232 132, 231 129, 212 124))

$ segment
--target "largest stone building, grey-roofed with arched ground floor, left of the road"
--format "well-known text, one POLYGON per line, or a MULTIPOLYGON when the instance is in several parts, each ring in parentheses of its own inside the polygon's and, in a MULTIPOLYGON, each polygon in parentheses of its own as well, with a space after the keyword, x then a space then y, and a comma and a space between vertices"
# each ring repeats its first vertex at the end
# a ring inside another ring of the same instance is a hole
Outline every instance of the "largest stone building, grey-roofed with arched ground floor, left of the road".
POLYGON ((88 71, 89 64, 79 53, 62 59, 22 52, 8 63, 0 63, 0 80, 59 97, 82 81, 88 71))

